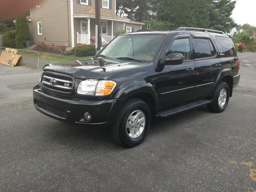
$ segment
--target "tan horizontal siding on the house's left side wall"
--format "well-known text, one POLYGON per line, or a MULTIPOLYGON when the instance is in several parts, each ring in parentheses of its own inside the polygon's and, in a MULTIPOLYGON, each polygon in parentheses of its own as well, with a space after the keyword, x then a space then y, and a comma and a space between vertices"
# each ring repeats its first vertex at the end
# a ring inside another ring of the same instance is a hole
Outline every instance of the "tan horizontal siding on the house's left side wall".
POLYGON ((70 45, 70 0, 45 0, 40 7, 31 9, 31 34, 34 42, 70 45), (41 22, 42 35, 37 34, 37 22, 41 22))

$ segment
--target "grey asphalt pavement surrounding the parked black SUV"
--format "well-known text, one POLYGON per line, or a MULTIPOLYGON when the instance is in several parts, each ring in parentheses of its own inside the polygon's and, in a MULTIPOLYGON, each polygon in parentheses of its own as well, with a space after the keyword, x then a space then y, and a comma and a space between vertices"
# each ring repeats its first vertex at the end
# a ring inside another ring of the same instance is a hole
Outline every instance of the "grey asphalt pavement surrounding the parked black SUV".
POLYGON ((243 65, 224 113, 202 107, 164 119, 131 149, 114 145, 109 129, 36 112, 40 73, 0 65, 0 191, 255 190, 256 69, 243 65))

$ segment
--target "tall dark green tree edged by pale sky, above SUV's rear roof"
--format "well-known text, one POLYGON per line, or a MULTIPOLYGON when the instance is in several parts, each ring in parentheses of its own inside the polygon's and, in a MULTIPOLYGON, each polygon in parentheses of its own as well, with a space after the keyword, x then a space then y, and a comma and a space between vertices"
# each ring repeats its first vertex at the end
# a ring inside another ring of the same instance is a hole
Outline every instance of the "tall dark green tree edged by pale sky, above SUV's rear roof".
POLYGON ((231 18, 236 1, 232 0, 209 0, 211 9, 209 10, 209 27, 215 30, 229 32, 237 24, 231 18))

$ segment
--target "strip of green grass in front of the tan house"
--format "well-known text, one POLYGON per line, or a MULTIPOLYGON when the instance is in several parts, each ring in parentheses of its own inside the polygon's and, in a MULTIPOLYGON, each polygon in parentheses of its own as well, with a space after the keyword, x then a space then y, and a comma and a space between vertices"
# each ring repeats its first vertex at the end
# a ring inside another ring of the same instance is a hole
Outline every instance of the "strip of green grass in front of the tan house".
MULTIPOLYGON (((0 49, 3 51, 4 49, 0 49)), ((36 52, 29 52, 24 50, 18 50, 18 54, 24 56, 24 57, 30 57, 30 58, 37 58, 36 52)), ((87 59, 92 58, 93 56, 88 57, 75 57, 76 60, 79 59, 87 59)), ((48 60, 48 61, 54 61, 54 62, 68 62, 74 60, 74 55, 58 55, 54 53, 45 53, 45 52, 39 52, 39 59, 41 60, 48 60)))

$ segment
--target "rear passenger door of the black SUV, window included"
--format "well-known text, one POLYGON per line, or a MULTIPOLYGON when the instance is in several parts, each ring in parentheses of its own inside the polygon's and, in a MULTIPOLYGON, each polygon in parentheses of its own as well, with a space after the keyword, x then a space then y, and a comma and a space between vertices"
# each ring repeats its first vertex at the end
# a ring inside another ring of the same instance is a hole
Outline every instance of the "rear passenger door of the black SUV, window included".
POLYGON ((212 95, 214 84, 220 73, 221 59, 210 36, 193 36, 194 61, 196 65, 196 88, 194 100, 212 95))

